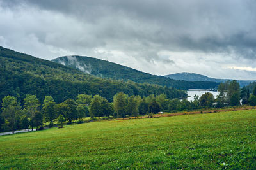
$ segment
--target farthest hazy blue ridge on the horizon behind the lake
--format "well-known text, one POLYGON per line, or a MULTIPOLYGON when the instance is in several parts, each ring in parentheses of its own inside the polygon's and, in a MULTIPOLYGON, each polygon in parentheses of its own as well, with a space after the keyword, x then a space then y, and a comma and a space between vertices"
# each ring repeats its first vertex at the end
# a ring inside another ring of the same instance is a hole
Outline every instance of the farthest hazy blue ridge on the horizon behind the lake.
MULTIPOLYGON (((212 81, 217 83, 223 83, 225 81, 230 80, 230 79, 210 78, 201 74, 188 73, 188 72, 169 74, 169 75, 166 75, 165 77, 172 78, 174 80, 212 81)), ((237 80, 237 81, 239 82, 241 87, 249 85, 252 82, 256 82, 256 80, 237 80)))

